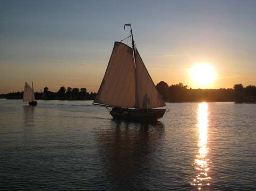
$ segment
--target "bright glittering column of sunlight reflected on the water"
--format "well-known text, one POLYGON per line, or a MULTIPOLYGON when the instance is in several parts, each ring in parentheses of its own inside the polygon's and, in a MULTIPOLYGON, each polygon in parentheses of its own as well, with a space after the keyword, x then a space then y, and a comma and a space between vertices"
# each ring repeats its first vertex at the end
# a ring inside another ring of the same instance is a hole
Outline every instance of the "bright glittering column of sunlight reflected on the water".
POLYGON ((210 185, 211 177, 209 176, 209 163, 211 161, 207 158, 209 148, 207 147, 207 128, 208 128, 208 105, 203 102, 198 104, 198 131, 199 131, 199 151, 195 158, 194 168, 197 170, 197 177, 193 179, 194 186, 199 190, 210 185))

